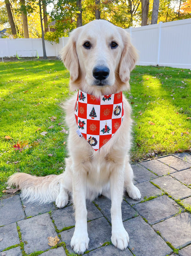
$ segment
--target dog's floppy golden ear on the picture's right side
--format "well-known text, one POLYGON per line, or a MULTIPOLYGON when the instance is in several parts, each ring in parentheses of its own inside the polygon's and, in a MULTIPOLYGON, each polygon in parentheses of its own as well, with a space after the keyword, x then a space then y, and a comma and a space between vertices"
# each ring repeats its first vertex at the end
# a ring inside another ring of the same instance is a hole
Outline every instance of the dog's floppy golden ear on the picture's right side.
POLYGON ((138 54, 135 47, 130 42, 129 33, 127 33, 124 29, 121 29, 121 36, 124 42, 124 49, 119 63, 119 77, 121 81, 125 83, 129 81, 130 71, 132 71, 135 67, 138 54))

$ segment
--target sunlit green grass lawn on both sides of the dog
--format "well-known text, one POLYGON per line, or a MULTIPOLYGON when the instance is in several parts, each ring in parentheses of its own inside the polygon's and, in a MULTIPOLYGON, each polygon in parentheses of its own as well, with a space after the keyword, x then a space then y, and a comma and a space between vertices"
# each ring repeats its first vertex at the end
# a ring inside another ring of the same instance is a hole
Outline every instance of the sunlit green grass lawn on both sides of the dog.
MULTIPOLYGON (((70 96, 68 82, 58 60, 0 63, 0 194, 12 173, 63 172, 67 127, 59 103, 70 96)), ((137 66, 130 84, 132 161, 190 149, 191 71, 137 66)))

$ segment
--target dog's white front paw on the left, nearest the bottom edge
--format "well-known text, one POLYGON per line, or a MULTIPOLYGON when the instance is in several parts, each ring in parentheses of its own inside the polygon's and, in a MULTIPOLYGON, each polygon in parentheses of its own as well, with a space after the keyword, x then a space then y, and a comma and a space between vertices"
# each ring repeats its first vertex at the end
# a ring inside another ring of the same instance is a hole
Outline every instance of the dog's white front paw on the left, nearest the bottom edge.
POLYGON ((74 232, 70 245, 76 253, 82 254, 88 249, 89 240, 88 233, 77 234, 74 232))

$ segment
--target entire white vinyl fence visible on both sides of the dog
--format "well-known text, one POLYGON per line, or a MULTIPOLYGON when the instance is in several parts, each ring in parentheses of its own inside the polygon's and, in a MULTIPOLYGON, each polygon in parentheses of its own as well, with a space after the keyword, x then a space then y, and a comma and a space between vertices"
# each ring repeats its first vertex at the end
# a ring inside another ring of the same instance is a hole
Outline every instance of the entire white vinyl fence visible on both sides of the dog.
MULTIPOLYGON (((129 28, 132 43, 138 50, 138 65, 159 65, 191 69, 191 18, 167 23, 129 28)), ((45 42, 46 55, 58 56, 68 38, 59 43, 45 42)), ((43 57, 42 40, 0 39, 0 56, 43 57)))

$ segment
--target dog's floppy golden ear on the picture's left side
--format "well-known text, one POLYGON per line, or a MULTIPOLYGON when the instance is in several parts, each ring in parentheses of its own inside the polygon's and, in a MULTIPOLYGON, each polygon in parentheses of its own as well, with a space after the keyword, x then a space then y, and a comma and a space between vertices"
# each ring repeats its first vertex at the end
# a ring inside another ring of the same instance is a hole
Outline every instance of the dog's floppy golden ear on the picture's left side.
POLYGON ((72 82, 76 81, 79 77, 79 61, 76 53, 76 33, 77 29, 73 30, 70 34, 67 45, 62 49, 60 54, 61 59, 70 71, 70 79, 72 82))

